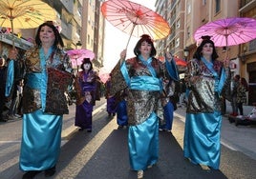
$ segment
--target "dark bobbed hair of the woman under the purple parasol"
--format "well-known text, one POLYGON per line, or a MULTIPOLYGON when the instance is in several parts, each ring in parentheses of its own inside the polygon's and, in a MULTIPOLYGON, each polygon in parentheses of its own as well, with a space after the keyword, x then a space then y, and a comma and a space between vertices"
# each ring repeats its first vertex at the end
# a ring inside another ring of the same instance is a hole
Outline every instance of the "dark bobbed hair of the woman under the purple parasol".
POLYGON ((201 60, 203 46, 207 43, 210 43, 213 47, 211 58, 212 60, 216 60, 219 57, 219 55, 217 54, 217 51, 215 49, 214 42, 210 40, 211 37, 206 35, 206 36, 202 36, 201 38, 203 39, 203 41, 201 45, 198 47, 198 49, 196 50, 196 52, 194 53, 193 58, 197 58, 198 60, 201 60))

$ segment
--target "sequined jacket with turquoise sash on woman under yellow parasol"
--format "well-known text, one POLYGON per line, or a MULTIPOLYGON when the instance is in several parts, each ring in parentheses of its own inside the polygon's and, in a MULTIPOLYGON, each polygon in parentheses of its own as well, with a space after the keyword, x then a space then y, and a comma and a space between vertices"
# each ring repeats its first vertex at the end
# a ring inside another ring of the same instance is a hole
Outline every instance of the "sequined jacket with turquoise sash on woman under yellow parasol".
POLYGON ((39 48, 33 48, 24 55, 23 112, 30 113, 44 106, 47 113, 68 113, 65 92, 73 83, 69 57, 63 50, 56 49, 42 66, 39 53, 39 48))

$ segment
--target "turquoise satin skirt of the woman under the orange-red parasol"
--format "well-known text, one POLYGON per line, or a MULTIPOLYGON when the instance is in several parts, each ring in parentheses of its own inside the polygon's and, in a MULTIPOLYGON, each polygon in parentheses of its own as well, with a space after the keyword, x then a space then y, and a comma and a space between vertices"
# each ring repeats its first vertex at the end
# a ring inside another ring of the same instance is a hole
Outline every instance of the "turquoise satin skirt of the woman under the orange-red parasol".
POLYGON ((159 159, 159 121, 156 113, 137 126, 130 126, 128 148, 131 169, 146 169, 159 159))

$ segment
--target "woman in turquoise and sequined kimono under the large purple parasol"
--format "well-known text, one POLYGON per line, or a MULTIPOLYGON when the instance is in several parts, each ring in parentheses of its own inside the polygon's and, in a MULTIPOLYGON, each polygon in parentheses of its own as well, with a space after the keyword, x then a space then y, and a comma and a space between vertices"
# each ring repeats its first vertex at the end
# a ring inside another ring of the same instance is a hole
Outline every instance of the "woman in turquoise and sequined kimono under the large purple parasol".
POLYGON ((230 84, 229 61, 218 61, 209 36, 187 65, 185 81, 189 89, 184 131, 184 157, 210 169, 220 168, 222 100, 230 84))

